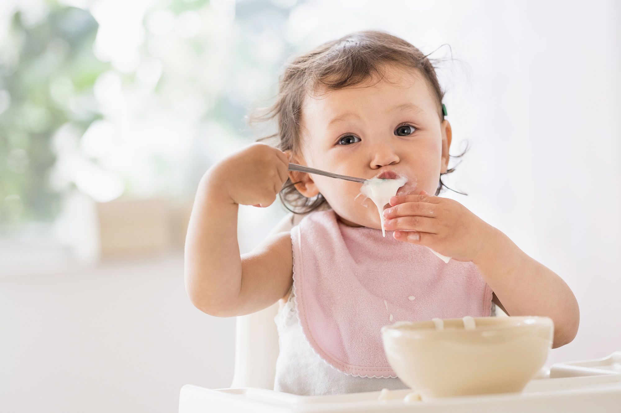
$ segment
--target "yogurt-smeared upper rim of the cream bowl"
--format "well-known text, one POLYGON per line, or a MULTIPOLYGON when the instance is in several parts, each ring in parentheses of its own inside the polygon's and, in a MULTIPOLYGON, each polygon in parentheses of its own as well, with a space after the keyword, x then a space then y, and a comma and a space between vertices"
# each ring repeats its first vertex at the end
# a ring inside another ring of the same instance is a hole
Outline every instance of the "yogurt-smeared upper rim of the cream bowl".
MULTIPOLYGON (((494 322, 491 325, 486 326, 477 326, 474 330, 466 330, 466 329, 442 329, 436 330, 435 324, 431 319, 429 320, 420 320, 420 321, 397 321, 393 324, 388 324, 386 326, 381 327, 381 332, 383 335, 392 334, 392 335, 410 335, 410 334, 477 334, 478 332, 483 331, 502 331, 509 328, 515 327, 545 327, 545 326, 554 326, 554 322, 550 317, 546 316, 509 316, 509 317, 473 317, 475 324, 479 319, 485 319, 486 321, 494 320, 498 321, 494 322), (510 318, 513 322, 502 322, 502 320, 510 318), (532 322, 526 321, 532 320, 532 322), (430 325, 431 323, 431 325, 430 325)), ((459 322, 463 320, 463 317, 460 318, 445 318, 443 321, 451 321, 451 322, 459 322)))

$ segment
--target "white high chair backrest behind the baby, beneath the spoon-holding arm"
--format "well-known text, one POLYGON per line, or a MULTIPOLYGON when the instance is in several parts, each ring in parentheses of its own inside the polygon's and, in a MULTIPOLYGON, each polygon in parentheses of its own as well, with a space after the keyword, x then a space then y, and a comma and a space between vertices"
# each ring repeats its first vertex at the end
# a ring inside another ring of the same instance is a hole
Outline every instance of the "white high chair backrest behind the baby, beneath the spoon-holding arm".
MULTIPOLYGON (((304 218, 289 213, 270 234, 289 231, 304 218)), ((232 388, 274 388, 276 358, 278 358, 278 330, 274 316, 278 301, 253 314, 238 316, 235 324, 235 371, 232 388)))

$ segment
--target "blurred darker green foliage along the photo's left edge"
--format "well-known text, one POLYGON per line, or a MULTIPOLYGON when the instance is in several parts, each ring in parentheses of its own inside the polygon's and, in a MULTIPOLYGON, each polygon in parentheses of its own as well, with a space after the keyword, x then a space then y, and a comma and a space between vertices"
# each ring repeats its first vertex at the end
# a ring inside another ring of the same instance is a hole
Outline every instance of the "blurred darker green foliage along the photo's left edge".
POLYGON ((101 118, 96 105, 77 107, 93 100, 93 84, 109 67, 93 55, 96 33, 93 16, 75 7, 52 4, 32 26, 13 14, 0 50, 0 223, 57 215, 61 192, 48 177, 53 135, 67 122, 83 132, 101 118))

